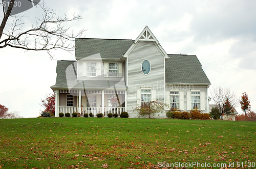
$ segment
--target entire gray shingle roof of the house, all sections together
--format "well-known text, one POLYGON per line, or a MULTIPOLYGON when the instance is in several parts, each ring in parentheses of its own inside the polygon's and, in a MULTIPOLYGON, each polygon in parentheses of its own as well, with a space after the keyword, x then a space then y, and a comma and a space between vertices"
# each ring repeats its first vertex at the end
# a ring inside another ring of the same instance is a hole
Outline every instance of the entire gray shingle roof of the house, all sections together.
MULTIPOLYGON (((115 39, 76 39, 76 47, 79 46, 76 49, 76 57, 88 57, 100 53, 101 58, 120 59, 133 42, 133 40, 115 39)), ((167 83, 210 85, 210 81, 196 55, 168 54, 168 56, 170 58, 165 63, 165 80, 167 83)), ((69 85, 86 88, 109 88, 109 85, 113 86, 118 83, 118 81, 109 80, 77 80, 76 64, 76 61, 58 61, 56 83, 52 88, 65 88, 69 85), (71 68, 69 69, 71 71, 66 72, 68 67, 71 68)), ((125 89, 125 84, 124 82, 119 83, 116 87, 125 89)))

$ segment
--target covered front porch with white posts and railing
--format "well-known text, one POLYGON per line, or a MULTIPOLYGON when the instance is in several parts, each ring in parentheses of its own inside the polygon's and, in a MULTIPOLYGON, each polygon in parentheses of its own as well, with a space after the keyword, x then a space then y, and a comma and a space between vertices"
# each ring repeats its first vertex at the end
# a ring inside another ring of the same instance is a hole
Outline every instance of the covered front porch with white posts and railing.
POLYGON ((62 112, 93 116, 102 113, 107 117, 109 113, 118 114, 126 111, 125 90, 57 90, 55 98, 55 117, 62 112))

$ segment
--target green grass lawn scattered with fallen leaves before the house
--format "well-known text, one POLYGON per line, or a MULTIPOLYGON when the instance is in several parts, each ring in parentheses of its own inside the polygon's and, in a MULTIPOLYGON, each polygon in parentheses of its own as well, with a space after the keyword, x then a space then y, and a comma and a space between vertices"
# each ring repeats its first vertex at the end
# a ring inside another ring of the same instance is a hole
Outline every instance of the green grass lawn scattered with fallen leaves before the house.
POLYGON ((33 118, 0 120, 0 126, 2 168, 256 162, 255 122, 33 118))

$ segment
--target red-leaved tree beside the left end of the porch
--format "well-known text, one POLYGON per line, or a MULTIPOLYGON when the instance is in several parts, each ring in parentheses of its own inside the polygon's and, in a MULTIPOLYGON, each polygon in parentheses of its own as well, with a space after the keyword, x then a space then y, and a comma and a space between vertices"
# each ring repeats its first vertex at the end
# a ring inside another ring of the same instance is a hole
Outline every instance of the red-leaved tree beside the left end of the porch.
POLYGON ((44 111, 50 112, 51 116, 55 115, 55 94, 49 94, 45 100, 41 100, 41 106, 45 108, 44 111))

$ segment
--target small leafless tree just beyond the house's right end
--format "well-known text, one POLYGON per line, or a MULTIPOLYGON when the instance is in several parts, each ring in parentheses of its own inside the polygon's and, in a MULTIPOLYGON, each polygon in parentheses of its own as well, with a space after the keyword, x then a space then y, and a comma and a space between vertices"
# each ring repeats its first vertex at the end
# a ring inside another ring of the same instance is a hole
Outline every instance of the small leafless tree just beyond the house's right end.
POLYGON ((225 104, 228 100, 230 106, 232 108, 235 108, 239 104, 239 100, 236 97, 236 94, 234 92, 231 92, 228 88, 222 88, 222 87, 212 87, 210 91, 212 100, 214 100, 216 107, 221 112, 221 119, 223 119, 223 114, 226 113, 225 104))

